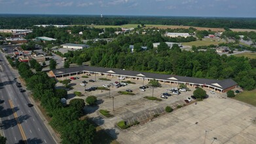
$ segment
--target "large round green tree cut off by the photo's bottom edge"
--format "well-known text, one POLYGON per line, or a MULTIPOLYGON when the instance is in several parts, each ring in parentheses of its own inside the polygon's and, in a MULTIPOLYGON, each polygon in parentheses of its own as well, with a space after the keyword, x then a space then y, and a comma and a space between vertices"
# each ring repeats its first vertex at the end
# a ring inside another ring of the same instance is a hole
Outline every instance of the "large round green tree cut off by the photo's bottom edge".
POLYGON ((96 128, 87 120, 73 120, 68 122, 61 132, 62 143, 86 143, 93 142, 96 136, 96 128))

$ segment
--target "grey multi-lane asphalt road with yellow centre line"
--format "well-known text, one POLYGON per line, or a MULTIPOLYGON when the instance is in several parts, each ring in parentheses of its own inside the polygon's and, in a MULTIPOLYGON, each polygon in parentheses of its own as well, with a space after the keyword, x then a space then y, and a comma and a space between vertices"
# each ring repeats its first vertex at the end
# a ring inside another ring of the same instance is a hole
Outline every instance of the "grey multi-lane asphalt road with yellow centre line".
POLYGON ((4 100, 0 104, 1 130, 7 143, 18 143, 21 139, 27 143, 56 143, 35 108, 27 106, 31 103, 27 93, 21 93, 16 86, 16 74, 2 54, 0 59, 0 99, 4 100))

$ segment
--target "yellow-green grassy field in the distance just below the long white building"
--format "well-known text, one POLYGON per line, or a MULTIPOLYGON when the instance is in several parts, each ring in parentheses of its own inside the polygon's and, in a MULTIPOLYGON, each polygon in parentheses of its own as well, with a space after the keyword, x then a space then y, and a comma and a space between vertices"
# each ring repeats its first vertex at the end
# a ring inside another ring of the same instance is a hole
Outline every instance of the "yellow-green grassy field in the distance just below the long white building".
POLYGON ((217 39, 202 39, 202 41, 191 41, 189 43, 182 43, 182 45, 188 45, 188 46, 208 46, 208 45, 218 45, 220 43, 227 43, 225 40, 217 41, 217 39))

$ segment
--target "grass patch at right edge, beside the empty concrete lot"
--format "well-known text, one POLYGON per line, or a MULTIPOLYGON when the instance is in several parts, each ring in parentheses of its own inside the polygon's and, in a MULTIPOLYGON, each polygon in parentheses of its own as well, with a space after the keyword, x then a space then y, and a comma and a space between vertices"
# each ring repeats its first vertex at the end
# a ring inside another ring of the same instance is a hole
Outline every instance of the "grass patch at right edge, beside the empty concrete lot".
POLYGON ((234 99, 256 106, 256 89, 251 91, 244 91, 236 95, 234 99))

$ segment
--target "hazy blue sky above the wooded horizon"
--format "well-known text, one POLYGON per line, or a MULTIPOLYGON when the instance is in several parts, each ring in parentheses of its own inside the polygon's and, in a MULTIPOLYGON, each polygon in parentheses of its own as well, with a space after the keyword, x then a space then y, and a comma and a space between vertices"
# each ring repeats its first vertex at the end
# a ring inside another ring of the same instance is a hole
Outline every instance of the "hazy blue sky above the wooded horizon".
POLYGON ((0 0, 0 14, 256 17, 256 0, 0 0))

